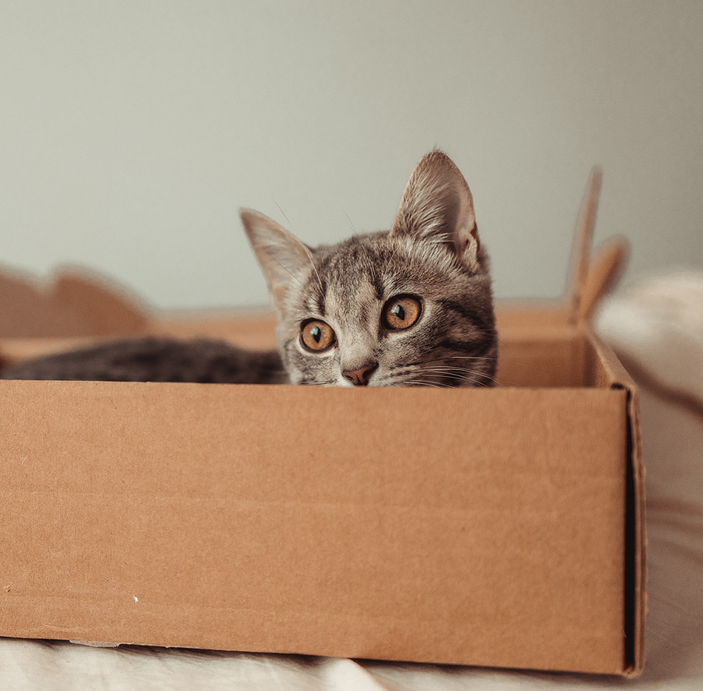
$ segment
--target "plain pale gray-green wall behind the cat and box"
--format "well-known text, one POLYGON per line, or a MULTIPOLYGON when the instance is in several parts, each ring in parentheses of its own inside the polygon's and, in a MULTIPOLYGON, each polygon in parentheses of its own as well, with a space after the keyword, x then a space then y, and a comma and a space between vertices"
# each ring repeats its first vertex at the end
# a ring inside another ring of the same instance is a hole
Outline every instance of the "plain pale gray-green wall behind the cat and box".
POLYGON ((703 3, 0 1, 6 265, 264 303, 239 207, 312 244, 384 228, 437 145, 498 295, 560 295, 593 163, 628 279, 702 267, 703 3))

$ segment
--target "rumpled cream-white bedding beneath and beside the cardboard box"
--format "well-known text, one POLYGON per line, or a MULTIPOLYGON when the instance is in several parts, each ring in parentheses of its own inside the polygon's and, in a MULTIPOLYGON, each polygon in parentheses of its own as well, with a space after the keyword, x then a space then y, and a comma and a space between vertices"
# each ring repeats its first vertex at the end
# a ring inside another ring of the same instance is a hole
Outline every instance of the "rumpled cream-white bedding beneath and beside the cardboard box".
POLYGON ((703 688, 703 276, 650 281, 599 319, 647 387, 647 663, 636 680, 0 639, 0 690, 703 688))

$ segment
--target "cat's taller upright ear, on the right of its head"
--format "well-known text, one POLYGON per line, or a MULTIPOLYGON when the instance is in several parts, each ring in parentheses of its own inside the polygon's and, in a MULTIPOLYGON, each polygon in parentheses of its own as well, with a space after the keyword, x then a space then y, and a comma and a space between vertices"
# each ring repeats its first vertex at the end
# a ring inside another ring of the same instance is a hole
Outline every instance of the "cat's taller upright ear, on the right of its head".
POLYGON ((480 269, 471 191, 449 156, 435 150, 415 166, 391 235, 445 243, 462 264, 472 271, 480 269))

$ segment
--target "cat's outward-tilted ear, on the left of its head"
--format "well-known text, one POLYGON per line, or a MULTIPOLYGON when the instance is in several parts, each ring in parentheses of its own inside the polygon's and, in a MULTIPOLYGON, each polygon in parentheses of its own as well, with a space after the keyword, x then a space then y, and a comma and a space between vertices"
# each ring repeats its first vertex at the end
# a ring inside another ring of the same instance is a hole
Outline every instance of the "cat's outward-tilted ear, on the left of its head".
POLYGON ((295 235, 264 214, 241 209, 239 215, 269 283, 273 304, 280 308, 290 284, 300 280, 306 267, 310 266, 310 250, 295 235))

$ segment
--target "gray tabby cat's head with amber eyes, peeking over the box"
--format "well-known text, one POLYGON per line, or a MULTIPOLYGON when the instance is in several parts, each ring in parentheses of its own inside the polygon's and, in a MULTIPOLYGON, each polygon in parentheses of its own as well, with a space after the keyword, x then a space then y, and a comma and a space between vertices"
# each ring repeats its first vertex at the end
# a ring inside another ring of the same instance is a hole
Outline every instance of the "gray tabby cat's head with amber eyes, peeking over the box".
POLYGON ((292 384, 490 386, 496 370, 488 259, 471 192, 449 157, 413 170, 390 231, 308 247, 241 212, 278 313, 292 384))

